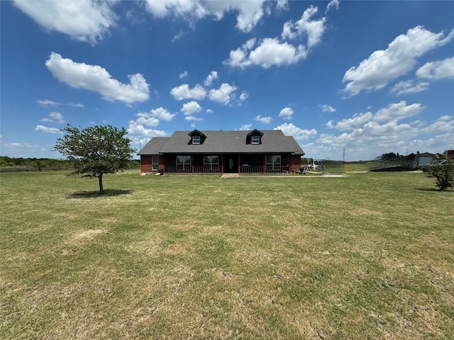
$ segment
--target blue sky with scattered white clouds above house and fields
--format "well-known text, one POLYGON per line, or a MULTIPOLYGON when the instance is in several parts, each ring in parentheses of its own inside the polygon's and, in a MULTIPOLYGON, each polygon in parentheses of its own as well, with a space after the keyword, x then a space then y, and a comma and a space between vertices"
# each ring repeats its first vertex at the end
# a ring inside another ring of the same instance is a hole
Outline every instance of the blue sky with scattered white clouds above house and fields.
POLYGON ((315 159, 454 147, 454 1, 0 1, 1 150, 272 130, 315 159))

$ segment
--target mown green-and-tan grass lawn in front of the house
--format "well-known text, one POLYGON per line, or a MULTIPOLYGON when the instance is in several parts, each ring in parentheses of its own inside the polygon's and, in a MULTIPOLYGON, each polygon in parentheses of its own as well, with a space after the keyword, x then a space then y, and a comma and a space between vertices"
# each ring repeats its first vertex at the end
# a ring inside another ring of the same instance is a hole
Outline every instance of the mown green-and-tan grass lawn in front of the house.
POLYGON ((0 339, 454 339, 423 174, 0 179, 0 339))

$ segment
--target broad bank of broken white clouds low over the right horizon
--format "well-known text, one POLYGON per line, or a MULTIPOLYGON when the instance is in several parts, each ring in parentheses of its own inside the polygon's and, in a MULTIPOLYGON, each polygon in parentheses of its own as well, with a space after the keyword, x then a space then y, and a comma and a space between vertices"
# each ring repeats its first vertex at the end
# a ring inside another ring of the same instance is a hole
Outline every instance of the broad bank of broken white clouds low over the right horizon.
MULTIPOLYGON (((442 115, 431 123, 421 120, 400 123, 400 120, 419 115, 423 109, 419 103, 407 105, 401 101, 380 108, 375 114, 355 114, 338 123, 330 120, 326 123, 328 128, 348 132, 320 135, 316 147, 311 146, 311 151, 341 159, 345 147, 348 159, 373 159, 384 152, 404 152, 406 149, 409 152, 443 150, 454 141, 452 115, 442 115), (424 134, 430 137, 422 140, 420 136, 424 134)), ((306 152, 308 149, 304 148, 306 152)))

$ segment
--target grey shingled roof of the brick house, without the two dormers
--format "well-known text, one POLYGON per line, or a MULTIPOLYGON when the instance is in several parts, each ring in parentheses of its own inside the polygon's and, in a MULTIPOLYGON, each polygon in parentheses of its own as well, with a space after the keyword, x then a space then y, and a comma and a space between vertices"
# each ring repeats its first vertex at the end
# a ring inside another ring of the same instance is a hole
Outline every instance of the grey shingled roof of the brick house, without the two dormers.
POLYGON ((202 131, 206 135, 204 144, 189 144, 191 131, 175 131, 171 137, 153 137, 138 154, 296 154, 304 155, 294 137, 284 136, 281 130, 262 130, 262 144, 248 145, 246 137, 250 131, 202 131))

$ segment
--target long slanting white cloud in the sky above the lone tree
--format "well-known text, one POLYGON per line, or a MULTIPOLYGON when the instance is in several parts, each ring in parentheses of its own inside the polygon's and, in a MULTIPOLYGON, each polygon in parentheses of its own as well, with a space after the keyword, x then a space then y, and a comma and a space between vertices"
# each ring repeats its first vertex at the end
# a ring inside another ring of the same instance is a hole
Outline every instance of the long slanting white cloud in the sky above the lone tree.
POLYGON ((75 89, 82 88, 97 92, 106 101, 134 103, 136 101, 147 101, 149 98, 149 85, 143 75, 139 73, 128 76, 129 84, 122 84, 113 79, 103 67, 63 59, 61 55, 55 52, 50 54, 45 65, 58 80, 75 89))

